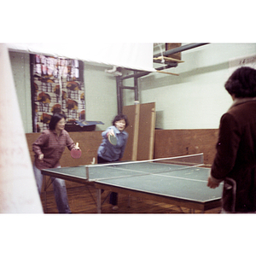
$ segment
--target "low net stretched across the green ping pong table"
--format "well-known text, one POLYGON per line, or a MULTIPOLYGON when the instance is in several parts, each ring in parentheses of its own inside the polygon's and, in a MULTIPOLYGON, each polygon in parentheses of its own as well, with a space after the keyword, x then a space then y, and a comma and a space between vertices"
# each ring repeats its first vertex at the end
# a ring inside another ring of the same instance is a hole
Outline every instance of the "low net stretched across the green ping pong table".
POLYGON ((89 180, 156 175, 203 166, 203 154, 188 154, 154 160, 124 161, 86 166, 89 180))

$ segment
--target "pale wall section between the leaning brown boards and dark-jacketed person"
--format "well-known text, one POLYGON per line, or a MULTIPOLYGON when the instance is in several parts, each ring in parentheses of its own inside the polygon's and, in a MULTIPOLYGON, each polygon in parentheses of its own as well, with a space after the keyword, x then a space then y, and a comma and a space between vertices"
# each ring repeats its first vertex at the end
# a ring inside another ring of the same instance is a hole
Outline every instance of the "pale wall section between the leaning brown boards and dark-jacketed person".
POLYGON ((232 103, 224 89, 229 61, 247 55, 256 55, 256 44, 207 44, 183 51, 185 62, 168 69, 178 77, 151 73, 139 79, 140 102, 156 103, 157 128, 216 129, 232 103))

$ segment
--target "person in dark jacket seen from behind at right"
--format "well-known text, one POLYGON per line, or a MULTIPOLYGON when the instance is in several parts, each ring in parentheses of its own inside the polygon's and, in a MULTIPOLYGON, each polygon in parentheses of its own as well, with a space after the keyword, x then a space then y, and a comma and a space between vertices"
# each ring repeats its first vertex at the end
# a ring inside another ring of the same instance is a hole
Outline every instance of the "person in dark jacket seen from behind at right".
POLYGON ((224 181, 222 212, 256 211, 256 70, 240 67, 224 85, 233 104, 220 119, 207 186, 224 181))

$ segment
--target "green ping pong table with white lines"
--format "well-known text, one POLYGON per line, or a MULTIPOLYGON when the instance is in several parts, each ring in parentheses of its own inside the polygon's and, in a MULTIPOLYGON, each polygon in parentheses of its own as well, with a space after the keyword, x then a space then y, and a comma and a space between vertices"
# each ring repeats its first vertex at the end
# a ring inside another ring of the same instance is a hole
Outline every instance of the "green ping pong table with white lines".
POLYGON ((42 174, 92 185, 96 188, 97 212, 102 212, 102 189, 152 201, 187 207, 190 212, 221 206, 223 183, 207 187, 210 169, 157 161, 44 169, 42 174))

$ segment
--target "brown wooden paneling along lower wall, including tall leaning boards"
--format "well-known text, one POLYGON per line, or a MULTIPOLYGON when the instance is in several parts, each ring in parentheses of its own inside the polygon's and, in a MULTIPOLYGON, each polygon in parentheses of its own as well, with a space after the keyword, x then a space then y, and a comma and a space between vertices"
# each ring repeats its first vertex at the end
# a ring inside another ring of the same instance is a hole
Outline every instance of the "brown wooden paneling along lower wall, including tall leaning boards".
MULTIPOLYGON (((143 105, 143 104, 142 104, 143 105)), ((127 146, 125 148, 124 160, 131 160, 132 157, 132 147, 133 147, 133 138, 134 138, 134 124, 135 124, 135 110, 136 105, 127 106, 126 113, 130 121, 130 125, 126 128, 126 131, 129 133, 129 138, 127 146)), ((148 108, 150 105, 145 106, 148 108)), ((141 107, 140 107, 141 108, 141 107)), ((144 107, 143 107, 144 108, 144 107)), ((143 108, 140 109, 140 116, 144 112, 143 108)), ((153 109, 153 108, 151 108, 153 109)), ((151 120, 148 119, 148 115, 143 114, 143 120, 140 120, 140 123, 148 124, 154 123, 154 114, 151 112, 151 120), (146 118, 147 117, 147 118, 146 118)), ((150 125, 148 125, 149 127, 150 125)), ((152 128, 153 125, 151 125, 152 128)), ((143 126, 142 126, 143 127, 143 126)), ((142 128, 143 129, 143 128, 142 128)), ((147 133, 146 130, 141 130, 144 133, 147 133)), ((141 132, 139 131, 139 132, 141 132)), ((70 136, 73 138, 74 142, 79 143, 79 147, 82 149, 83 154, 81 159, 73 160, 70 156, 69 150, 66 148, 62 157, 61 157, 61 166, 79 166, 79 165, 88 165, 93 160, 93 157, 96 158, 97 149, 102 143, 102 131, 79 131, 79 132, 69 132, 70 136)), ((34 154, 32 152, 32 143, 39 137, 40 133, 28 133, 26 134, 26 141, 28 150, 32 159, 34 161, 34 154)), ((139 136, 139 140, 142 138, 139 136)), ((154 140, 154 158, 162 157, 171 157, 183 154, 197 154, 204 153, 204 159, 206 165, 212 165, 214 156, 216 154, 215 145, 218 141, 218 129, 198 129, 198 130, 156 130, 154 131, 154 139, 151 137, 151 140, 154 140)), ((148 142, 150 138, 148 139, 148 142)), ((145 146, 143 149, 140 148, 140 143, 138 141, 138 155, 139 158, 143 158, 143 154, 147 155, 148 159, 148 148, 145 146), (141 154, 141 151, 143 152, 141 154)), ((142 143, 142 145, 145 145, 142 143)), ((150 151, 150 150, 149 150, 150 151)), ((67 182, 67 188, 76 187, 78 183, 67 182)), ((50 188, 49 188, 50 189, 50 188)))

